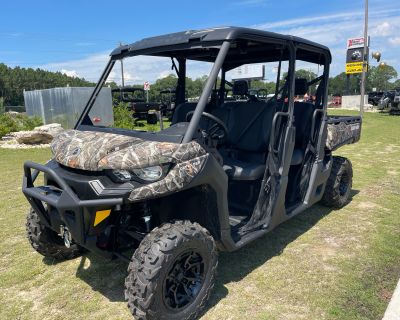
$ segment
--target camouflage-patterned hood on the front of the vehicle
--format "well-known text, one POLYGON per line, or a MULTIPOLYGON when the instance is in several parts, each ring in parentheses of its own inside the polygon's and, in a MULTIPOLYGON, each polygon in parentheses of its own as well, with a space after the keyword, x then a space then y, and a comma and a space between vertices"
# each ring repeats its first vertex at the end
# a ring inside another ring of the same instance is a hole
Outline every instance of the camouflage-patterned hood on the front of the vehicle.
POLYGON ((51 143, 55 160, 67 167, 100 171, 180 163, 206 154, 195 141, 178 144, 95 131, 65 130, 51 143))

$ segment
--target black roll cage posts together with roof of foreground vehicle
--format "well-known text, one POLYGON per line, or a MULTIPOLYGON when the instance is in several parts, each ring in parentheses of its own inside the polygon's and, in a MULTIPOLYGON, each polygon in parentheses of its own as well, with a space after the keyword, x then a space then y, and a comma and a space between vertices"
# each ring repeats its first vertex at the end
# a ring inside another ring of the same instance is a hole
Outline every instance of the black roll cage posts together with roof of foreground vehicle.
POLYGON ((288 61, 289 70, 284 89, 286 90, 286 97, 288 99, 287 113, 290 119, 293 118, 296 60, 323 65, 323 75, 317 79, 321 81, 320 84, 324 88, 322 92, 320 91, 322 95, 320 99, 323 101, 323 111, 326 112, 327 82, 331 62, 331 54, 327 47, 294 36, 280 35, 255 29, 226 27, 186 31, 146 38, 133 44, 116 48, 112 51, 110 60, 82 111, 75 129, 79 129, 81 125, 92 125, 88 116, 89 111, 101 88, 104 86, 115 62, 138 55, 171 58, 172 68, 176 71, 178 77, 175 91, 176 105, 185 102, 187 60, 214 63, 193 117, 181 141, 182 143, 187 143, 193 139, 207 101, 215 88, 218 74, 221 72, 222 81, 217 91, 220 101, 223 101, 226 92, 226 72, 247 63, 279 63, 278 81, 275 92, 275 95, 277 95, 280 84, 281 64, 283 61, 288 61))

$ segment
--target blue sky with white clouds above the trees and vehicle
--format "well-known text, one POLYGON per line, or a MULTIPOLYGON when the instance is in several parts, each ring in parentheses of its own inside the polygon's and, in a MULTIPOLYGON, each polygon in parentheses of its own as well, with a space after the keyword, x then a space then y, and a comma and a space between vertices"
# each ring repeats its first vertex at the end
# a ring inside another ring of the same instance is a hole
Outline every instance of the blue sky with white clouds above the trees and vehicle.
MULTIPOLYGON (((363 33, 363 3, 363 0, 6 1, 1 5, 0 62, 59 70, 95 81, 108 53, 119 41, 130 43, 174 31, 235 25, 293 34, 325 44, 333 54, 332 73, 338 74, 344 69, 346 39, 363 33)), ((398 0, 371 0, 371 49, 380 50, 383 60, 400 73, 399 30, 398 0)))

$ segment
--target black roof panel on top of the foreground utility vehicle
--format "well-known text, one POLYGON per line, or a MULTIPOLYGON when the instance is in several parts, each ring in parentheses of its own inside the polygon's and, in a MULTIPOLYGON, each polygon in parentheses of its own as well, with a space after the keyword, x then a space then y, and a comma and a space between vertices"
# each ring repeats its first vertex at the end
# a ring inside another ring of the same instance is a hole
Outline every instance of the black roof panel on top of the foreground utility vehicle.
MULTIPOLYGON (((145 38, 132 44, 123 45, 116 48, 114 51, 112 51, 111 57, 115 59, 135 55, 172 57, 179 56, 181 54, 188 59, 213 61, 215 59, 215 53, 218 51, 219 46, 223 41, 240 41, 250 39, 255 41, 264 40, 272 43, 293 42, 297 46, 301 46, 304 52, 314 52, 314 54, 319 56, 322 53, 325 55, 325 57, 328 57, 329 62, 331 60, 329 48, 324 45, 295 36, 241 27, 217 27, 203 30, 188 30, 145 38), (188 49, 191 51, 188 52, 188 49), (204 52, 205 49, 207 49, 209 52, 207 55, 199 54, 200 51, 204 52), (210 54, 212 51, 214 51, 214 53, 210 54)), ((272 56, 273 54, 271 53, 271 57, 272 56)), ((302 60, 321 62, 321 58, 317 58, 317 56, 310 56, 309 59, 302 60)))

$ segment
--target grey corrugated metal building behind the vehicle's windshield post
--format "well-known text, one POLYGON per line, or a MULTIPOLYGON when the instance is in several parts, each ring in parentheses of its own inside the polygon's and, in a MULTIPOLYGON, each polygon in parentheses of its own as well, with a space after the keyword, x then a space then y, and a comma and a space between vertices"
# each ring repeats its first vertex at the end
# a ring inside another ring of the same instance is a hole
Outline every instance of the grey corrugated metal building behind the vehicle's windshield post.
MULTIPOLYGON (((93 89, 65 87, 24 91, 26 112, 41 117, 45 124, 60 123, 64 129, 73 128, 93 89)), ((89 116, 95 125, 113 125, 111 88, 101 90, 89 116)))

